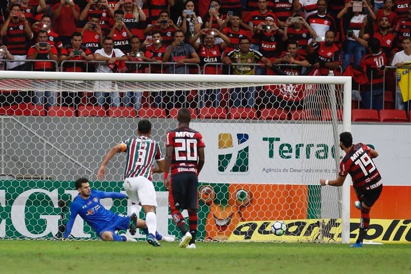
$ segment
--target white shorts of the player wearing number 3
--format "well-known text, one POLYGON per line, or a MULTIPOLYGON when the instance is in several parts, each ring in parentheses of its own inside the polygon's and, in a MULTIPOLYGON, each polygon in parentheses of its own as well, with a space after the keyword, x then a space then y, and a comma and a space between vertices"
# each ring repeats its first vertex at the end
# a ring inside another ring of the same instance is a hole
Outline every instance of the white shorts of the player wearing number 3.
POLYGON ((141 206, 157 206, 156 190, 153 183, 144 176, 127 178, 123 187, 130 202, 141 206))

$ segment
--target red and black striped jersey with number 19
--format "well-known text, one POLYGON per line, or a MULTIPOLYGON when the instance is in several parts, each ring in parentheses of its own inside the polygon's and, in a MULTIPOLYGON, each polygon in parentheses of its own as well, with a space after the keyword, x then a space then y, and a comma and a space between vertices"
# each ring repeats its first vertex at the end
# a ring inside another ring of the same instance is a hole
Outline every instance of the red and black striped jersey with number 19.
POLYGON ((366 144, 354 144, 340 163, 341 177, 351 175, 354 188, 367 190, 367 187, 381 180, 381 175, 370 157, 371 148, 366 144))

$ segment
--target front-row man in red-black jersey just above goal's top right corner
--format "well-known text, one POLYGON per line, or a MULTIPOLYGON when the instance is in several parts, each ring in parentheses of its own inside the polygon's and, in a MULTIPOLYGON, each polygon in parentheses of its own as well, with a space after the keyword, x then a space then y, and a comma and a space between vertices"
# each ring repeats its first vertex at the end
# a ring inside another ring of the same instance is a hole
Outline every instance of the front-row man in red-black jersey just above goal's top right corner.
POLYGON ((307 60, 313 64, 314 68, 318 68, 319 75, 327 76, 329 70, 336 70, 340 66, 340 50, 334 44, 335 33, 329 30, 325 33, 325 41, 314 42, 307 46, 307 60))

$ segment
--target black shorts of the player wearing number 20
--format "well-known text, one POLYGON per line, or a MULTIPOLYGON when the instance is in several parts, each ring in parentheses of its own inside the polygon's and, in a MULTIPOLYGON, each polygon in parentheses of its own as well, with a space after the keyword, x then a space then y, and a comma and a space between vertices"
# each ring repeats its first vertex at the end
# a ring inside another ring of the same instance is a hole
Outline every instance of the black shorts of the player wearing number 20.
POLYGON ((171 176, 170 207, 177 209, 198 208, 198 177, 194 172, 183 172, 171 176))

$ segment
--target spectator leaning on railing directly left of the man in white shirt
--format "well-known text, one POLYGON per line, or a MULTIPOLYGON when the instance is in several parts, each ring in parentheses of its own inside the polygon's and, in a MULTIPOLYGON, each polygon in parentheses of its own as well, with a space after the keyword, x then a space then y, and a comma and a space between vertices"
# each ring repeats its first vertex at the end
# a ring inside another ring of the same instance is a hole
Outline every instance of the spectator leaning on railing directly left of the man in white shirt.
MULTIPOLYGON (((71 35, 71 44, 66 45, 60 53, 59 62, 63 61, 92 61, 94 60, 93 54, 90 49, 83 46, 83 37, 80 32, 73 32, 71 35)), ((75 71, 75 72, 87 72, 87 67, 85 62, 66 62, 61 64, 61 67, 65 71, 75 71)), ((62 106, 77 108, 81 102, 81 92, 62 92, 62 106)))

